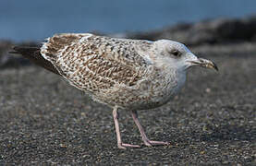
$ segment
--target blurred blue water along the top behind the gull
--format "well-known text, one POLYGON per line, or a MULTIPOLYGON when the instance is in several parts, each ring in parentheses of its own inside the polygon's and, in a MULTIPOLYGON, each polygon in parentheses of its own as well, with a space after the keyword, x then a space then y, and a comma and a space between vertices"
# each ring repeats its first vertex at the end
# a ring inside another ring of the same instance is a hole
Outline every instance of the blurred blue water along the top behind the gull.
POLYGON ((41 41, 63 32, 154 30, 253 13, 255 0, 0 0, 0 39, 41 41))

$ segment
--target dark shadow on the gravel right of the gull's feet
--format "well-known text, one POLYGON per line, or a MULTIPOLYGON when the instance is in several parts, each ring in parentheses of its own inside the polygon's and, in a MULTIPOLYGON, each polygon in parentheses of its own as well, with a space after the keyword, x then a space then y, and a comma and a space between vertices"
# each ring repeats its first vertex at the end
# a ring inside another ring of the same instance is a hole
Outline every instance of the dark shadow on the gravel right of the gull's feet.
MULTIPOLYGON (((179 130, 180 131, 180 130, 179 130)), ((220 125, 208 131, 191 130, 189 133, 172 133, 158 134, 155 137, 157 140, 169 141, 171 145, 190 145, 193 143, 205 142, 211 144, 213 142, 235 142, 247 141, 253 142, 256 140, 256 128, 252 125, 220 125)))

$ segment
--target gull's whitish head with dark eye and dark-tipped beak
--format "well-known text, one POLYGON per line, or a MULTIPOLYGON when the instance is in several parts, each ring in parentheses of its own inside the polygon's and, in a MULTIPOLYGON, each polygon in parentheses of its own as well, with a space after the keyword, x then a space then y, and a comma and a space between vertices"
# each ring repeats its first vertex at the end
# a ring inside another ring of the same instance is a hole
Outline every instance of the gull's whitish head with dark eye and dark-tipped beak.
POLYGON ((179 70, 187 70, 190 66, 202 66, 218 70, 217 65, 207 59, 198 58, 182 43, 177 41, 154 41, 155 57, 159 65, 167 65, 179 70))

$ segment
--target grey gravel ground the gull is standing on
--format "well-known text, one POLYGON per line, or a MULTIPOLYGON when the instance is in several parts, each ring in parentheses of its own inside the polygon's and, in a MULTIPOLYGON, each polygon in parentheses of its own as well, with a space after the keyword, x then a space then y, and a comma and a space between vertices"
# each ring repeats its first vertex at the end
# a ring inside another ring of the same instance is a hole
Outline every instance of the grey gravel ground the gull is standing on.
MULTIPOLYGON (((256 44, 192 48, 219 66, 190 69, 165 106, 140 111, 148 136, 169 146, 118 149, 111 109, 35 65, 0 70, 0 165, 255 165, 256 44)), ((124 142, 142 144, 120 112, 124 142)))

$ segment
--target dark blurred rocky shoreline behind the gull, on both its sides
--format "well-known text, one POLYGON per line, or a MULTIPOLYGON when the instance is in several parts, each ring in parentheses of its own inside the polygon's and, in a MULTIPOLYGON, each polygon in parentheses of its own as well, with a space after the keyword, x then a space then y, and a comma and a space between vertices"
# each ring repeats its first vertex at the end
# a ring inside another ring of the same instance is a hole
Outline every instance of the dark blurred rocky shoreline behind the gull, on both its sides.
MULTIPOLYGON (((102 33, 96 32, 96 34, 102 33)), ((189 47, 256 42, 256 16, 248 18, 216 18, 197 23, 179 23, 162 30, 110 34, 110 36, 150 41, 169 39, 185 43, 189 47)), ((0 68, 28 64, 27 61, 8 53, 14 45, 36 46, 38 44, 33 41, 15 43, 13 41, 0 40, 0 68)))

